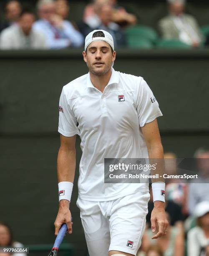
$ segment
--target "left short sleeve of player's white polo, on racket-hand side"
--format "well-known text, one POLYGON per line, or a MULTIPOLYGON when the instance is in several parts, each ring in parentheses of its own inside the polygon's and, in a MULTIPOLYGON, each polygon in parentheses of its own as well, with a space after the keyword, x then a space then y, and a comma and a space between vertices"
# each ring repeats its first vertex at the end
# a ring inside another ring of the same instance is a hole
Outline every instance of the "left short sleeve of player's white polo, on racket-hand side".
POLYGON ((80 131, 77 127, 77 120, 73 115, 73 111, 70 108, 64 88, 60 95, 59 102, 59 127, 58 132, 63 136, 71 137, 75 134, 80 135, 80 131))

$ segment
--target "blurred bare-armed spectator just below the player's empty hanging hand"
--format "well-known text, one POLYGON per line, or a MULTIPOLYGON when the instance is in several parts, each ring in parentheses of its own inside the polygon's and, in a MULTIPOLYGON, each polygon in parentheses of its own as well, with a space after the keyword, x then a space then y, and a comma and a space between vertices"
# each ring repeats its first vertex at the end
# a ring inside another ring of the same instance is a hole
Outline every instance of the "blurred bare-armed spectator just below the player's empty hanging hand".
MULTIPOLYGON (((167 219, 169 220, 168 213, 167 219)), ((142 250, 148 251, 151 245, 157 245, 163 251, 164 256, 184 256, 184 232, 176 226, 168 226, 167 230, 164 236, 151 239, 153 236, 151 228, 146 229, 141 243, 142 250)))

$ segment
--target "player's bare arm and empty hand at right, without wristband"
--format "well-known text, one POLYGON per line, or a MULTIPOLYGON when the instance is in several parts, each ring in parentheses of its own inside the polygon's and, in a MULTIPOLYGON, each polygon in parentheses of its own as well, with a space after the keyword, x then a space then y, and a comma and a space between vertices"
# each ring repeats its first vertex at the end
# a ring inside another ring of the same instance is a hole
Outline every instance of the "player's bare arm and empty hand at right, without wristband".
MULTIPOLYGON (((146 141, 149 158, 164 159, 163 146, 161 144, 157 120, 155 119, 150 123, 146 123, 143 127, 141 127, 141 130, 146 141)), ((152 182, 154 181, 156 180, 152 180, 152 182)), ((158 233, 154 235, 152 239, 159 238, 164 235, 166 232, 165 230, 169 224, 165 214, 165 203, 162 201, 154 202, 154 209, 151 213, 152 232, 156 231, 156 223, 158 225, 158 233)))

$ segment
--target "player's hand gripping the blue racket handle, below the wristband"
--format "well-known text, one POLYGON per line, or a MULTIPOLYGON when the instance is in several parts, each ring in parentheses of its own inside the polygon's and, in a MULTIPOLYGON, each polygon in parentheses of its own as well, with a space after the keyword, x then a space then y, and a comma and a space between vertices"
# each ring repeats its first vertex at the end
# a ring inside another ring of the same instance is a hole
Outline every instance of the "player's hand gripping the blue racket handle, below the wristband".
POLYGON ((60 227, 63 223, 66 223, 68 226, 68 233, 71 234, 73 232, 72 230, 72 221, 71 221, 71 212, 69 210, 70 202, 68 200, 60 200, 60 206, 58 210, 58 215, 55 220, 55 235, 57 236, 60 227))

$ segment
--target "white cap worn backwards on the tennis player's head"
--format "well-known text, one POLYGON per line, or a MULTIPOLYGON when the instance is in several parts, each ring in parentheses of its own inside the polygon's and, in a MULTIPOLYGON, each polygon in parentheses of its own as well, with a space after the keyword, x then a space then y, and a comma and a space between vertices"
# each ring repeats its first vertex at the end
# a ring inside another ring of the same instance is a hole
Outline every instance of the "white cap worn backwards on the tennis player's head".
POLYGON ((87 49, 87 47, 89 46, 89 44, 91 44, 93 41, 106 41, 113 49, 114 51, 114 41, 113 41, 113 37, 111 36, 110 33, 108 33, 107 31, 105 30, 102 30, 102 29, 97 29, 97 30, 94 30, 92 32, 90 32, 86 38, 85 38, 85 51, 87 49), (97 31, 102 31, 104 33, 104 36, 105 37, 93 37, 93 33, 97 32, 97 31))

